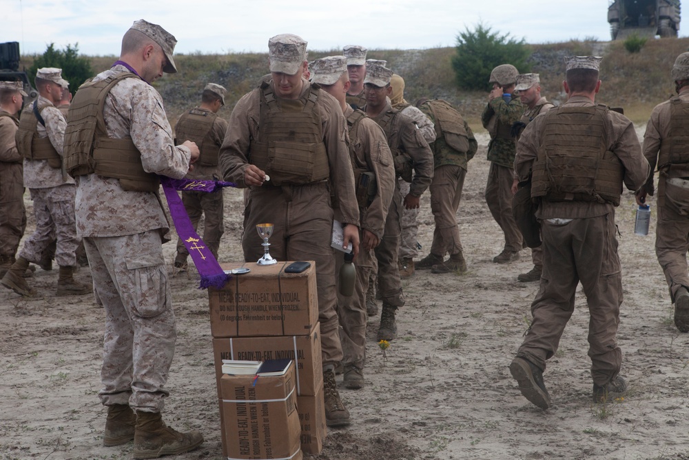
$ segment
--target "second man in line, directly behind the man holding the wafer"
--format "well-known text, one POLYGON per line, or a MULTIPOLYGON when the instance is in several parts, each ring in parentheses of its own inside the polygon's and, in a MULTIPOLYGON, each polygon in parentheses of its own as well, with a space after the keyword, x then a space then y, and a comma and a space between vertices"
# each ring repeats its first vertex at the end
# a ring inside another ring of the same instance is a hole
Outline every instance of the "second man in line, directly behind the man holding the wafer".
MULTIPOLYGON (((393 191, 395 167, 385 133, 378 123, 369 119, 361 110, 347 104, 349 89, 347 58, 331 56, 316 59, 313 63, 313 83, 340 103, 347 118, 349 131, 349 159, 354 172, 356 199, 361 217, 360 248, 353 260, 356 267, 354 294, 345 297, 340 293, 338 279, 338 318, 342 343, 342 366, 345 388, 364 386, 364 361, 366 359, 366 299, 365 291, 373 272, 373 249, 383 237, 393 191)), ((343 253, 336 254, 336 272, 344 263, 343 253)))

